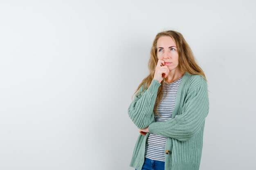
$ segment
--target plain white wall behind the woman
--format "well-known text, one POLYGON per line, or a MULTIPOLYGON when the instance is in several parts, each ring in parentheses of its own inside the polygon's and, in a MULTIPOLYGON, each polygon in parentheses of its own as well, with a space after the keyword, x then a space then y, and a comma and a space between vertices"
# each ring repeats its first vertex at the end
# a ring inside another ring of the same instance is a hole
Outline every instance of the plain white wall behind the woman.
POLYGON ((252 0, 0 1, 0 170, 132 170, 128 117, 155 35, 208 80, 200 170, 255 170, 252 0))

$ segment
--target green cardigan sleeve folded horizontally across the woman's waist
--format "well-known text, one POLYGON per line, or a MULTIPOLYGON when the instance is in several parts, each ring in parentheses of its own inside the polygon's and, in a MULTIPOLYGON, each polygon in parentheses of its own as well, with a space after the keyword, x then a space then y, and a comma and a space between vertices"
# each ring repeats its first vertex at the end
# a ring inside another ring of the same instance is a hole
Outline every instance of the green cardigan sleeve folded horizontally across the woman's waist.
POLYGON ((150 133, 187 141, 198 132, 209 113, 209 98, 205 80, 189 90, 179 113, 173 118, 149 125, 150 133))

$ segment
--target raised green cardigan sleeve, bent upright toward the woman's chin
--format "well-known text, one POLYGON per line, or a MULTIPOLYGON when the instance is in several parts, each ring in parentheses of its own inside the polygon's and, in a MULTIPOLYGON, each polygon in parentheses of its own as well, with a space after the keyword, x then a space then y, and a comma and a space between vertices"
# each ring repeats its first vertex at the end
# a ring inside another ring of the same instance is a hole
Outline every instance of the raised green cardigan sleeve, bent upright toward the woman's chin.
POLYGON ((132 100, 128 108, 128 115, 138 128, 146 128, 154 121, 153 110, 160 85, 161 83, 156 79, 152 79, 148 89, 143 91, 143 86, 141 86, 132 100))

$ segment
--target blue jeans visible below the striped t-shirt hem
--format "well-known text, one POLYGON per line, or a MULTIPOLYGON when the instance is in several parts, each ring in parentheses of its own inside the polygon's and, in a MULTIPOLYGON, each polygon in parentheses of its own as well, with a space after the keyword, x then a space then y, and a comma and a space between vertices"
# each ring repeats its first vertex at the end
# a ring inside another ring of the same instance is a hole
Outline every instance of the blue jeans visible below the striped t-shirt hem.
POLYGON ((164 161, 156 161, 145 157, 141 170, 164 170, 164 161))

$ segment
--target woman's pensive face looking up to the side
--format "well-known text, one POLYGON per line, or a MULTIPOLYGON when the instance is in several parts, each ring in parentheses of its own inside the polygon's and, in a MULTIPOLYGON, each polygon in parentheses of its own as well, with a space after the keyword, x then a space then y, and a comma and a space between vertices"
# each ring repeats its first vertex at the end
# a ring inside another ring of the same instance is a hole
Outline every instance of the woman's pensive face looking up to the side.
POLYGON ((179 55, 173 38, 162 36, 157 40, 157 58, 158 60, 164 60, 170 71, 177 68, 179 55))

